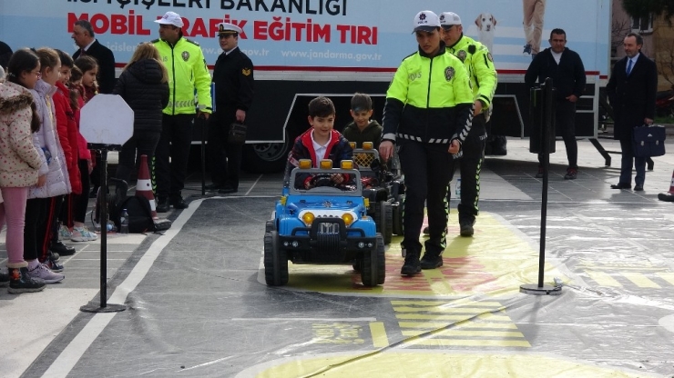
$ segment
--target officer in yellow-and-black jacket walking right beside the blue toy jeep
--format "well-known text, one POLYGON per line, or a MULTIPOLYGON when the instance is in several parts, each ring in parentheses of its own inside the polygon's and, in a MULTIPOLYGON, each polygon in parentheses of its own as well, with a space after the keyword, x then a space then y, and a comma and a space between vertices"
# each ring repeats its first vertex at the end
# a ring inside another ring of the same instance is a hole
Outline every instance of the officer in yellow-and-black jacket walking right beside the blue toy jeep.
POLYGON ((447 188, 454 159, 473 121, 473 91, 464 64, 447 53, 440 35, 440 21, 431 11, 414 16, 419 50, 403 59, 386 93, 383 135, 379 154, 383 160, 399 146, 405 174, 403 251, 401 274, 442 266, 446 247, 447 188), (430 237, 424 258, 419 242, 424 224, 424 203, 430 237))

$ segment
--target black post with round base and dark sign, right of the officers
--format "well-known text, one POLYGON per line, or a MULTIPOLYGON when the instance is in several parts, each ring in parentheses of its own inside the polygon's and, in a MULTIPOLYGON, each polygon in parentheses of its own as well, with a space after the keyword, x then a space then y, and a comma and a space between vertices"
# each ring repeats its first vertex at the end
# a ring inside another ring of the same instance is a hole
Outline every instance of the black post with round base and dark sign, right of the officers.
POLYGON ((541 196, 541 237, 540 253, 538 255, 538 283, 523 284, 519 287, 521 293, 535 295, 559 295, 561 286, 543 284, 543 273, 546 267, 546 218, 547 218, 547 189, 548 165, 550 153, 555 152, 555 89, 552 79, 546 78, 540 88, 531 90, 531 112, 534 127, 529 141, 529 152, 541 155, 543 164, 543 195, 541 196))

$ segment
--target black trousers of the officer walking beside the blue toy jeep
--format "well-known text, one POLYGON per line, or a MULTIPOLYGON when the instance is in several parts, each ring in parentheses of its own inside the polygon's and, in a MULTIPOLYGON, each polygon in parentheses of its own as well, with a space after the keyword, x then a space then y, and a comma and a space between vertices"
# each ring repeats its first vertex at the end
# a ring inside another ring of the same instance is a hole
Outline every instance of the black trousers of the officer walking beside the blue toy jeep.
POLYGON ((419 242, 424 224, 424 204, 428 214, 427 254, 442 254, 446 247, 447 186, 454 172, 454 158, 447 144, 425 144, 398 140, 400 164, 405 174, 403 249, 420 255, 419 242))

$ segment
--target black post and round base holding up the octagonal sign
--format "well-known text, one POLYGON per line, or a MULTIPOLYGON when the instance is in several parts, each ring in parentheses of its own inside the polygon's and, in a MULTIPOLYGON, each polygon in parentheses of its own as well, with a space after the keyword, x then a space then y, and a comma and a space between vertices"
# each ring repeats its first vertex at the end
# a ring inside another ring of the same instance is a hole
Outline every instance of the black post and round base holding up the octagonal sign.
POLYGON ((100 305, 88 303, 79 308, 85 313, 117 313, 127 309, 124 304, 107 303, 107 148, 101 148, 100 166, 100 305))

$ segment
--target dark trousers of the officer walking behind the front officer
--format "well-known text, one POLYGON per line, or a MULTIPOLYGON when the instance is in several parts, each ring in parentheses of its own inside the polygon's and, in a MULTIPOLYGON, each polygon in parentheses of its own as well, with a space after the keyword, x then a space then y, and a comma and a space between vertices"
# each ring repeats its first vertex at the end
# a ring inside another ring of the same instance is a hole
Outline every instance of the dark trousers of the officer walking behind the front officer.
MULTIPOLYGON (((461 146, 464 154, 458 162, 461 169, 461 202, 458 205, 459 224, 464 222, 472 224, 475 222, 475 216, 479 214, 480 171, 482 170, 482 164, 485 162, 485 124, 485 114, 474 117, 470 134, 461 146)), ((448 190, 448 205, 451 196, 452 191, 448 190)))

